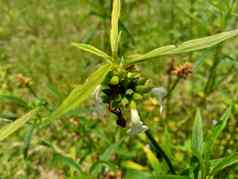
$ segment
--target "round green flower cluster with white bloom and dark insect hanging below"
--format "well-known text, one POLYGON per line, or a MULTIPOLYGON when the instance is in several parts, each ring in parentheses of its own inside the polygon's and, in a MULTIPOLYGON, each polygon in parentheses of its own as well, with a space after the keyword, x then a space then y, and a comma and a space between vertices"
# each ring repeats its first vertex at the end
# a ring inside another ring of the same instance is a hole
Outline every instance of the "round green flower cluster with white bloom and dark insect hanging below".
POLYGON ((108 104, 110 112, 118 119, 117 124, 127 127, 127 120, 122 114, 123 108, 130 108, 131 120, 128 134, 135 135, 148 129, 140 120, 136 104, 149 96, 152 83, 139 73, 135 66, 127 68, 115 68, 102 83, 102 101, 108 104))

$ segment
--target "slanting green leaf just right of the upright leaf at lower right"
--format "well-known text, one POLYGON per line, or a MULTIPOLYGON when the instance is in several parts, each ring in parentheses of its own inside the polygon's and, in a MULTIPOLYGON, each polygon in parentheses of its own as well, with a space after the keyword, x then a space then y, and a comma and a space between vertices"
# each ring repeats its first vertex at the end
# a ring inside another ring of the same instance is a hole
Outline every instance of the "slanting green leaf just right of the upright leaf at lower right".
POLYGON ((219 135, 222 133, 223 129, 226 127, 227 121, 231 115, 231 108, 232 107, 229 107, 227 109, 227 111, 221 117, 220 122, 212 129, 211 134, 208 136, 208 139, 206 142, 206 153, 210 154, 212 152, 215 141, 217 140, 219 135))

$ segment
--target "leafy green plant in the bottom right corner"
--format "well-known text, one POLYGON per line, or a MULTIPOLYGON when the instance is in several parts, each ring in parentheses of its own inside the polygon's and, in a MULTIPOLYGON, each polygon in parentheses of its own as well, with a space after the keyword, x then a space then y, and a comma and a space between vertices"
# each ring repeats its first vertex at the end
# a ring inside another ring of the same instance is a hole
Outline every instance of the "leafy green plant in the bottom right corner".
POLYGON ((221 135, 231 116, 232 107, 228 108, 211 133, 204 139, 203 120, 200 110, 197 110, 192 132, 191 166, 188 169, 191 178, 213 179, 215 176, 233 164, 238 163, 238 154, 232 153, 224 158, 212 159, 215 141, 221 135))

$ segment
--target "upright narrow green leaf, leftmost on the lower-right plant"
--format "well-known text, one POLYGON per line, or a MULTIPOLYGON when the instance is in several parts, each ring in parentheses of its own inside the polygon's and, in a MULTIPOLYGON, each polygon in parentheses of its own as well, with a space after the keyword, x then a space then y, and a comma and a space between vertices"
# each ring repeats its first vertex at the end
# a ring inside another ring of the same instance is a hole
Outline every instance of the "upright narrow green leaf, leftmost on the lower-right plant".
POLYGON ((197 109, 192 131, 192 152, 199 160, 203 154, 203 125, 201 112, 197 109))

